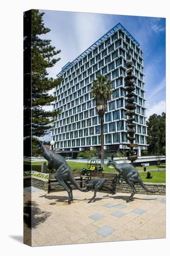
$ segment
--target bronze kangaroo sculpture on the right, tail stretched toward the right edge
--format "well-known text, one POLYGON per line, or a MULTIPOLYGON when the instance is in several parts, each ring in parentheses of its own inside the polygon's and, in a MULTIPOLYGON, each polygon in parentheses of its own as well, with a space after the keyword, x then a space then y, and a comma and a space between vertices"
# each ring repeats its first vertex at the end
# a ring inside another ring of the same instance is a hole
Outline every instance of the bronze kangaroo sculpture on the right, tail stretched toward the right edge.
POLYGON ((109 160, 109 162, 107 163, 107 166, 109 166, 111 164, 118 171, 118 176, 116 177, 116 180, 118 181, 118 179, 122 175, 122 177, 123 177, 122 181, 125 181, 127 184, 129 184, 133 190, 133 193, 127 199, 126 202, 132 201, 133 196, 136 194, 137 191, 134 186, 134 183, 136 183, 136 182, 139 183, 142 186, 142 188, 144 188, 146 191, 148 191, 150 193, 156 193, 159 191, 159 189, 158 190, 147 189, 145 187, 144 182, 142 181, 137 169, 131 163, 119 163, 118 164, 116 161, 113 160, 113 155, 112 155, 111 160, 109 160))

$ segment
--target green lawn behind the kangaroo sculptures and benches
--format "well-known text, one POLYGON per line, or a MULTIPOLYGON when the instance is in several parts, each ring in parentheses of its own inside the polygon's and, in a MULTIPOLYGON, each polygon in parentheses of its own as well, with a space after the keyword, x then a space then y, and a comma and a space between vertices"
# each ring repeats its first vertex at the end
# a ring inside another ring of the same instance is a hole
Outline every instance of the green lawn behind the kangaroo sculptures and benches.
MULTIPOLYGON (((67 161, 68 165, 70 166, 70 168, 73 169, 77 169, 77 172, 81 172, 82 168, 87 167, 86 163, 82 163, 82 162, 72 162, 72 161, 67 161)), ((26 165, 31 165, 30 162, 26 162, 26 165)), ((47 163, 46 163, 46 167, 47 167, 47 163)), ((152 177, 152 179, 148 180, 146 179, 147 176, 147 172, 141 172, 140 176, 142 178, 142 180, 144 182, 160 182, 160 183, 165 183, 165 170, 163 170, 163 168, 165 168, 165 165, 161 165, 159 166, 161 171, 150 171, 150 174, 152 177)), ((154 169, 157 168, 156 165, 154 166, 147 166, 146 169, 154 169)), ((32 162, 32 170, 34 171, 41 171, 41 162, 32 162)), ((143 167, 137 167, 137 170, 143 170, 143 167)), ((115 170, 115 168, 109 168, 106 164, 105 164, 105 171, 106 173, 117 173, 117 171, 115 170)), ((51 173, 51 171, 48 170, 47 168, 47 173, 51 173)))

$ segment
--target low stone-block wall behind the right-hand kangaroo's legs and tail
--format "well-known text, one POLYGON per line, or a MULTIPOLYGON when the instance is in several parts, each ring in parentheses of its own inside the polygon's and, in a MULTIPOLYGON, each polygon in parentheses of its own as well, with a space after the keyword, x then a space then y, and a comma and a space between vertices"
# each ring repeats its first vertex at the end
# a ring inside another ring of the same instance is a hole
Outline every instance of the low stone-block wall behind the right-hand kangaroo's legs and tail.
MULTIPOLYGON (((158 192, 154 193, 154 195, 165 195, 166 194, 166 184, 165 183, 144 182, 144 184, 150 190, 160 189, 158 192)), ((152 194, 152 193, 144 190, 139 184, 135 184, 135 189, 137 191, 137 194, 147 194, 147 195, 152 194)), ((116 192, 132 193, 132 189, 126 182, 122 182, 122 183, 116 185, 116 192)))

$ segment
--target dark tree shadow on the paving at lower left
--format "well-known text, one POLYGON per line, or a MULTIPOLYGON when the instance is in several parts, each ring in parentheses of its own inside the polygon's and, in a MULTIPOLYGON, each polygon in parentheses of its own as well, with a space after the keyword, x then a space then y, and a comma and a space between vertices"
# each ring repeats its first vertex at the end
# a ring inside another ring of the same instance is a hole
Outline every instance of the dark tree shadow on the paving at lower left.
POLYGON ((24 222, 28 228, 36 228, 51 215, 50 212, 42 211, 34 201, 27 201, 24 207, 24 222))

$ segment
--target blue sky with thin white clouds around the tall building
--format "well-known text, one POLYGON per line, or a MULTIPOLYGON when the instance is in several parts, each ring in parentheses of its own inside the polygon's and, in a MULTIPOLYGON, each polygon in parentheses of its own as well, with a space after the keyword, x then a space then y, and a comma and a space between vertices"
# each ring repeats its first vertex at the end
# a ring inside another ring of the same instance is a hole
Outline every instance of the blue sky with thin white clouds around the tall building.
POLYGON ((165 19, 99 13, 47 11, 45 26, 51 31, 41 38, 51 39, 61 49, 61 60, 49 68, 55 78, 61 67, 72 62, 117 23, 121 23, 143 50, 147 117, 165 111, 165 19))

